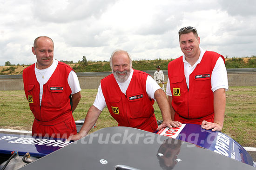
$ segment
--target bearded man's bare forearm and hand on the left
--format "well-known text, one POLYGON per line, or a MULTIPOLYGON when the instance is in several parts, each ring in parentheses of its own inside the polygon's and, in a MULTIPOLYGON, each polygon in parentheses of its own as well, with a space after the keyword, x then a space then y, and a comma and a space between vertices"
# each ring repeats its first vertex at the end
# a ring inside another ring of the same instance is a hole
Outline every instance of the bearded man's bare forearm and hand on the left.
POLYGON ((67 139, 67 141, 79 140, 79 139, 85 137, 88 134, 88 132, 92 129, 92 127, 94 126, 96 121, 98 120, 98 117, 100 116, 100 114, 101 114, 101 110, 99 110, 97 107, 92 105, 88 110, 88 113, 85 117, 84 124, 81 127, 80 132, 76 135, 70 136, 67 139))

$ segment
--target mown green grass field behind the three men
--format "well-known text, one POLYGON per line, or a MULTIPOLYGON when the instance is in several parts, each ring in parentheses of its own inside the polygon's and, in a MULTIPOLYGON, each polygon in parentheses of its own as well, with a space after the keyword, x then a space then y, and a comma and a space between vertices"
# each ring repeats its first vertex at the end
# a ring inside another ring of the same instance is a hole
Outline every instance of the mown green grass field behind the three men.
MULTIPOLYGON (((84 119, 93 104, 97 89, 83 89, 81 101, 73 113, 75 120, 84 119)), ((222 132, 235 139, 242 146, 256 147, 256 86, 229 87, 226 93, 227 104, 222 132)), ((154 105, 157 120, 162 120, 157 104, 154 105)), ((0 91, 0 128, 31 130, 34 116, 31 113, 24 91, 0 91)), ((96 128, 117 126, 104 108, 96 128)))

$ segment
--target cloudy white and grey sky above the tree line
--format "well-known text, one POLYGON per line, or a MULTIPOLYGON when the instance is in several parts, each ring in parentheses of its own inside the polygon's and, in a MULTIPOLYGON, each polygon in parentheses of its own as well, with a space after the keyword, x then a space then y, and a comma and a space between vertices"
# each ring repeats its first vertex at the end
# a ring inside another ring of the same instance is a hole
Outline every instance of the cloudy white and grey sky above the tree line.
POLYGON ((178 30, 193 26, 204 50, 256 56, 256 0, 0 0, 0 65, 33 64, 34 39, 54 41, 57 60, 182 56, 178 30))

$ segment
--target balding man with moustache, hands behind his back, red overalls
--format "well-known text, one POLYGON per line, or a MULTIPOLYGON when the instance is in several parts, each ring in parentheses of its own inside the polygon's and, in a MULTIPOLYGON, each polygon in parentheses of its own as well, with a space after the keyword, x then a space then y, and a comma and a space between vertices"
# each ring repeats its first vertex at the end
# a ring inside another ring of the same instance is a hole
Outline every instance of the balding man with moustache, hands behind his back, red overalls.
POLYGON ((76 134, 72 113, 81 99, 77 75, 54 59, 51 38, 36 38, 32 52, 37 62, 23 70, 24 91, 34 114, 32 135, 67 139, 76 134))

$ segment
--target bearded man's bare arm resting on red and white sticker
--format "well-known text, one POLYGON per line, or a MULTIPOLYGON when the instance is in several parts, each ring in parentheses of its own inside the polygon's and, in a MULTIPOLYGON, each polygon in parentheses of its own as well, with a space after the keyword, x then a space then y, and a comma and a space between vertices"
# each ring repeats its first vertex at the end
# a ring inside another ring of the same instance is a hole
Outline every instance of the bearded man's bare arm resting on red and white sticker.
POLYGON ((163 119, 162 124, 156 130, 160 130, 166 126, 177 127, 182 125, 180 122, 172 120, 170 106, 166 98, 166 95, 162 91, 162 89, 158 89, 155 91, 155 100, 157 101, 157 104, 161 110, 162 119, 163 119))

